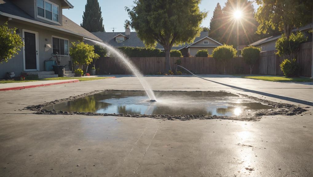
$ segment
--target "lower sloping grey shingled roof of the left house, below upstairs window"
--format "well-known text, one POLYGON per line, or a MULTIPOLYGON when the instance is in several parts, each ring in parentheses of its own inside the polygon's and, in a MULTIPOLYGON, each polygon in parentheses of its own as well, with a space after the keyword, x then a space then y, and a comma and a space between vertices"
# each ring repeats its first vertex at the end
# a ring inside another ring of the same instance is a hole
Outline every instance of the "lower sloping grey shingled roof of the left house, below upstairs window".
POLYGON ((14 3, 9 0, 0 0, 0 15, 12 18, 14 21, 25 21, 29 23, 33 23, 35 25, 40 25, 43 28, 48 29, 56 29, 71 35, 86 37, 94 40, 101 41, 101 39, 97 38, 95 35, 91 34, 89 31, 80 27, 80 25, 74 23, 69 18, 62 15, 62 26, 57 24, 49 24, 38 21, 37 19, 28 15, 28 13, 24 12, 21 8, 16 6, 14 3))

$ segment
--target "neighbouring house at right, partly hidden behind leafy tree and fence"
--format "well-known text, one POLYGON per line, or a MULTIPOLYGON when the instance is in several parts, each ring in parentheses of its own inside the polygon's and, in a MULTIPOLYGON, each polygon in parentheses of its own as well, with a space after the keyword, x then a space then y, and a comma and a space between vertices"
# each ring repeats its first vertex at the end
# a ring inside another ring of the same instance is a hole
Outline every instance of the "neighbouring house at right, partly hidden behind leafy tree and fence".
MULTIPOLYGON (((309 32, 310 30, 312 30, 312 24, 308 24, 298 29, 293 29, 292 32, 301 31, 305 36, 308 37, 307 42, 310 42, 312 41, 312 34, 309 32)), ((259 47, 262 52, 275 50, 276 40, 280 37, 281 35, 270 36, 268 38, 260 39, 252 44, 249 44, 248 46, 259 47)))

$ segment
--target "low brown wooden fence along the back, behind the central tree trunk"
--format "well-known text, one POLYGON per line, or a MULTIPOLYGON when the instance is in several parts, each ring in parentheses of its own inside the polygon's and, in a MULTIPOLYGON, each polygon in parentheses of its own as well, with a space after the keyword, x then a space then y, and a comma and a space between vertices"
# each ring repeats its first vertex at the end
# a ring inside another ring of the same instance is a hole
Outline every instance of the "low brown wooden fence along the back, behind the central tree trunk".
MULTIPOLYGON (((129 58, 143 74, 168 73, 165 70, 165 57, 131 57, 129 58)), ((223 63, 208 57, 171 57, 172 70, 176 70, 178 59, 182 60, 181 66, 197 74, 223 74, 223 63)), ((102 57, 97 60, 96 67, 100 67, 100 74, 131 74, 121 61, 112 57, 102 57)), ((254 74, 258 74, 258 64, 254 66, 254 74)), ((182 70, 184 73, 185 71, 182 70)), ((240 57, 227 63, 227 74, 249 74, 249 65, 240 57)), ((187 72, 186 72, 187 73, 187 72)))

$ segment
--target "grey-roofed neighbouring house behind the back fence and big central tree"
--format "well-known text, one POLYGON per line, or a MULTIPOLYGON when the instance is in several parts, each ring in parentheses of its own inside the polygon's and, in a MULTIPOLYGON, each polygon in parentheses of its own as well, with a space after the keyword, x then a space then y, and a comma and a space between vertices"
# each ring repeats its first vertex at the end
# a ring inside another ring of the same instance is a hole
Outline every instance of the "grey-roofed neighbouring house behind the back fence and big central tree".
MULTIPOLYGON (((130 32, 130 29, 126 29, 125 32, 95 32, 92 34, 114 47, 145 47, 145 44, 138 38, 137 33, 130 32)), ((89 41, 85 42, 92 44, 89 41)), ((197 54, 198 50, 208 49, 211 55, 212 50, 219 45, 222 44, 208 37, 208 32, 201 32, 200 36, 197 37, 192 44, 173 46, 172 50, 180 50, 182 55, 187 55, 187 52, 189 52, 190 55, 194 56, 197 54)), ((161 44, 157 44, 156 48, 164 50, 161 44)))

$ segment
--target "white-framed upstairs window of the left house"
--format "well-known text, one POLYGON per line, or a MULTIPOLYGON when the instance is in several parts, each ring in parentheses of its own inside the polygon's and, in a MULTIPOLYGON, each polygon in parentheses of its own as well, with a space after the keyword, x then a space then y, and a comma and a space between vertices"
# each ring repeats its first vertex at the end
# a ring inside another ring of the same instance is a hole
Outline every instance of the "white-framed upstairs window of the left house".
POLYGON ((37 0, 37 17, 59 22, 59 5, 47 0, 37 0))

